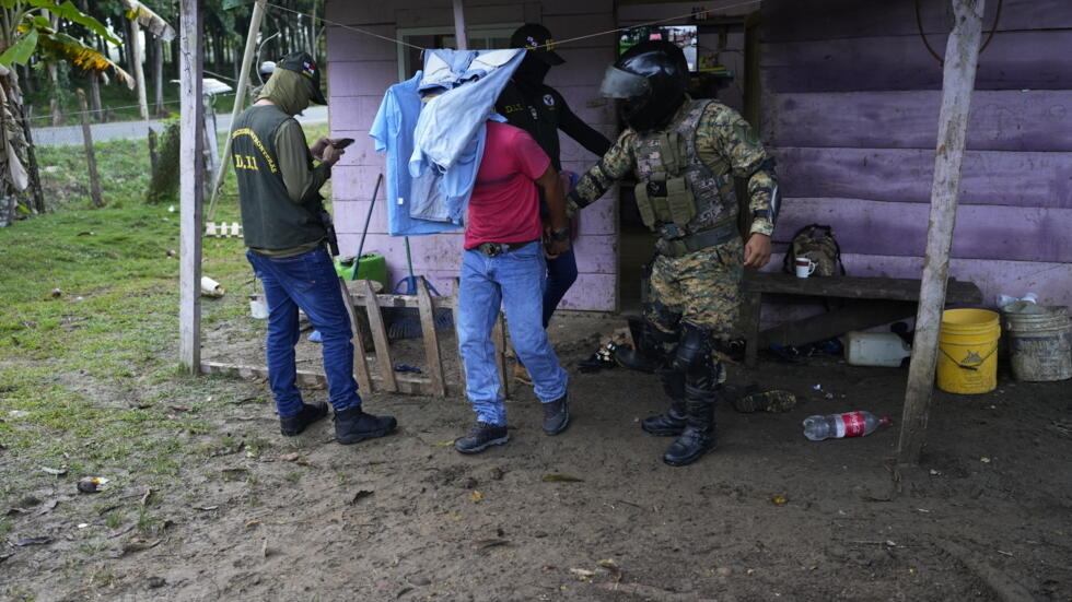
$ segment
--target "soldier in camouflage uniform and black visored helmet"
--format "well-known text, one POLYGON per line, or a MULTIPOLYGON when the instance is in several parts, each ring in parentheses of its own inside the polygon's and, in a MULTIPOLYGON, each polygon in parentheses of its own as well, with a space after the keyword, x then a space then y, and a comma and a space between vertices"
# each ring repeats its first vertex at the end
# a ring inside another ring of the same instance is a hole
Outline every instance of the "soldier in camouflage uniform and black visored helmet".
POLYGON ((725 374, 714 350, 735 321, 743 268, 770 260, 778 204, 774 162, 753 129, 716 101, 689 98, 687 81, 685 56, 666 42, 638 44, 608 68, 601 92, 618 99, 629 128, 569 199, 580 209, 630 172, 637 177, 637 206, 659 239, 638 349, 617 358, 662 378, 671 406, 642 426, 678 436, 663 456, 672 465, 715 446, 725 374), (737 229, 734 177, 748 182, 747 243, 737 229))

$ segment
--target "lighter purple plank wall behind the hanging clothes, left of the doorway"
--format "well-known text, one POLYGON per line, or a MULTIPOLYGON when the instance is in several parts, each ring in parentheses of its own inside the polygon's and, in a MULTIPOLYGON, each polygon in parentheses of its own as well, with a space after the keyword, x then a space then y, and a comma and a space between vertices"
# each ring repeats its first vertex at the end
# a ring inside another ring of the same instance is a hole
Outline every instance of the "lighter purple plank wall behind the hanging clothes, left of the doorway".
MULTIPOLYGON (((397 50, 392 42, 363 35, 356 27, 395 38, 397 28, 447 26, 453 28, 451 0, 397 0, 351 2, 327 0, 328 93, 331 135, 357 139, 333 175, 336 227, 343 252, 356 252, 369 211, 376 175, 385 170, 383 155, 373 151, 369 127, 384 92, 398 82, 397 50)), ((541 22, 557 39, 568 39, 614 28, 610 0, 554 0, 511 2, 466 0, 467 24, 541 22)), ((557 51, 568 61, 551 70, 548 83, 566 96, 582 119, 614 134, 610 107, 598 96, 599 80, 613 58, 613 36, 561 44, 557 51)), ((567 137, 561 138, 564 169, 581 172, 596 157, 567 137)), ((392 281, 406 273, 403 238, 386 235, 384 191, 373 211, 365 251, 383 253, 392 281)), ((576 243, 576 284, 562 303, 571 309, 614 310, 617 306, 617 203, 604 199, 585 210, 576 243)), ((410 238, 413 270, 423 274, 443 294, 453 291, 458 274, 462 236, 440 234, 410 238)))

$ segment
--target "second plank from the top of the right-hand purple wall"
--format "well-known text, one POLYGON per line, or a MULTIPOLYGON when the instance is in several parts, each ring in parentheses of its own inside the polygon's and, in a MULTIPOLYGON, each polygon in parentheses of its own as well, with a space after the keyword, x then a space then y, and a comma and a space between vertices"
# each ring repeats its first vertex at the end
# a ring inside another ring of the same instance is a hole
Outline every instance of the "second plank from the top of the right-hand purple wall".
MULTIPOLYGON (((945 48, 946 36, 932 46, 945 48)), ((1072 29, 1006 32, 980 57, 976 90, 1064 90, 1072 59, 1054 48, 1072 48, 1072 29)), ((859 92, 941 90, 942 69, 919 36, 764 44, 760 52, 768 92, 859 92)))

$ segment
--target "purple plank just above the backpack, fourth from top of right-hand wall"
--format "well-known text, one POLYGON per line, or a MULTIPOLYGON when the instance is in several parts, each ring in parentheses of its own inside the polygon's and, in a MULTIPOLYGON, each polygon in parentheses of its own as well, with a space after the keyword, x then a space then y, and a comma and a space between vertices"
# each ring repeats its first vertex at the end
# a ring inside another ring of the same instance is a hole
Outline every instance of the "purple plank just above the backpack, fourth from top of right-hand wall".
MULTIPOLYGON (((934 152, 922 150, 771 149, 783 191, 930 202, 934 152)), ((1072 153, 968 151, 960 203, 1072 208, 1072 153)))

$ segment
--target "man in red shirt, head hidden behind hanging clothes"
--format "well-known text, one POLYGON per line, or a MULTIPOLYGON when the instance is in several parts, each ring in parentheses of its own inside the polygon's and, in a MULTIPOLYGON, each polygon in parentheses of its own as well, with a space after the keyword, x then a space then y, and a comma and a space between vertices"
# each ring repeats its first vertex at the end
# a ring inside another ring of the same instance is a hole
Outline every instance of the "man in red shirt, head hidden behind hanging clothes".
POLYGON ((527 132, 497 121, 488 121, 487 128, 469 199, 458 291, 458 349, 466 394, 477 414, 469 434, 454 442, 463 453, 477 453, 509 438, 491 341, 500 306, 506 312, 514 351, 544 404, 544 432, 557 435, 570 418, 568 376, 543 324, 545 250, 554 257, 570 248, 562 184, 550 158, 527 132), (550 211, 546 248, 537 186, 550 211))

